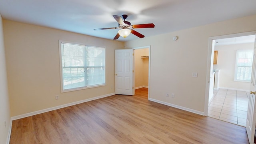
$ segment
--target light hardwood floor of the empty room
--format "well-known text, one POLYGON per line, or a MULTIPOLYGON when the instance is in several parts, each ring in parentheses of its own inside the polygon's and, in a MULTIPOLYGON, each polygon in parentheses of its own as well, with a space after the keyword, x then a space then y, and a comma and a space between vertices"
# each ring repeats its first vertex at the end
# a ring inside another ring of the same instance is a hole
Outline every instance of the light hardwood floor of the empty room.
POLYGON ((14 120, 10 144, 248 144, 246 128, 151 102, 147 92, 14 120))

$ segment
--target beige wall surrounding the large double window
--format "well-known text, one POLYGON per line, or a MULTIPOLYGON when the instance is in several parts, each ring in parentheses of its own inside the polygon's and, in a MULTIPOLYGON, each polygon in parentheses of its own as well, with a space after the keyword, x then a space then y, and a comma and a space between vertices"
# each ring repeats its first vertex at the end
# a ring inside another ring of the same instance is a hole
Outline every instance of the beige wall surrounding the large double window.
POLYGON ((3 25, 11 116, 114 93, 114 50, 123 42, 10 20, 3 25), (58 40, 106 48, 106 86, 61 93, 58 40))

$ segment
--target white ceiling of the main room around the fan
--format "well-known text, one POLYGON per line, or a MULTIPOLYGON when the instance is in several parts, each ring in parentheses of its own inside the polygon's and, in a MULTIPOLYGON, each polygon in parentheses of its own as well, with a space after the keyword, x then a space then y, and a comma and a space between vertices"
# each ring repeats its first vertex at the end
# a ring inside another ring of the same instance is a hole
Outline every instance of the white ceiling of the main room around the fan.
MULTIPOLYGON (((112 15, 127 14, 145 37, 256 14, 256 0, 0 0, 4 19, 113 39, 118 29, 112 15)), ((131 34, 128 40, 138 39, 131 34)), ((120 37, 119 41, 124 41, 120 37)))

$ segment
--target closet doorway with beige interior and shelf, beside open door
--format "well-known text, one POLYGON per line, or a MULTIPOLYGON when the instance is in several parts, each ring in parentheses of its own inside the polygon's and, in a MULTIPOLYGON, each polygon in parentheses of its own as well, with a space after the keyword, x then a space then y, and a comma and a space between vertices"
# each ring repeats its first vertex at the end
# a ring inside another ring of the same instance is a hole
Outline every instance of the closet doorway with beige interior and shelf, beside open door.
MULTIPOLYGON (((147 88, 150 84, 150 46, 134 49, 134 89, 147 88)), ((136 91, 135 91, 136 92, 136 91)))

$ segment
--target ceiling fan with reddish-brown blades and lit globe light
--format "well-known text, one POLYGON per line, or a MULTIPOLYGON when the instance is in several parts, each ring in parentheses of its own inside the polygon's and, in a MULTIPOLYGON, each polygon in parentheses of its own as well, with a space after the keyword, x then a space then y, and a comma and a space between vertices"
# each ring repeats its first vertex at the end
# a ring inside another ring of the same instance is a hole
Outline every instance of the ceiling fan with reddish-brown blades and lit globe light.
POLYGON ((113 15, 113 17, 118 22, 118 27, 114 27, 114 28, 96 28, 94 30, 121 29, 121 30, 118 31, 118 33, 114 37, 114 40, 117 40, 120 36, 126 38, 130 33, 134 34, 135 36, 138 36, 139 38, 144 38, 143 34, 140 34, 139 32, 137 32, 135 30, 130 30, 130 28, 154 28, 155 27, 155 25, 153 23, 131 25, 130 22, 125 21, 126 18, 128 17, 126 14, 123 14, 122 17, 117 16, 117 15, 113 15))

